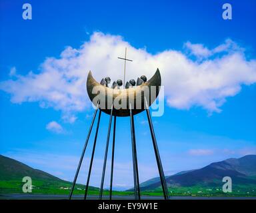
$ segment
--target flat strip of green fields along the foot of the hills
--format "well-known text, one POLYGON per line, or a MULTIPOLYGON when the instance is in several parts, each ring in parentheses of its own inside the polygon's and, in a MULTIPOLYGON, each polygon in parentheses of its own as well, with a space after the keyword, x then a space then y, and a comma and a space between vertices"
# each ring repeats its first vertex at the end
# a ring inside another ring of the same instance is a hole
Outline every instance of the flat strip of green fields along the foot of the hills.
MULTIPOLYGON (((0 194, 21 194, 23 182, 18 180, 0 181, 0 194)), ((68 195, 70 192, 70 182, 47 182, 43 180, 33 181, 32 194, 58 194, 68 195)), ((83 195, 85 193, 85 185, 76 184, 73 194, 83 195)), ((89 195, 98 195, 99 188, 89 186, 89 195)), ((109 194, 109 190, 103 191, 104 195, 109 194)), ((133 192, 120 192, 113 191, 113 195, 117 196, 132 196, 133 192)), ((163 196, 161 188, 157 188, 152 191, 143 191, 141 195, 144 196, 163 196)), ((173 187, 169 188, 170 196, 237 196, 237 197, 256 197, 255 186, 233 186, 233 192, 224 193, 222 188, 219 187, 205 187, 205 186, 193 186, 193 187, 173 187)))

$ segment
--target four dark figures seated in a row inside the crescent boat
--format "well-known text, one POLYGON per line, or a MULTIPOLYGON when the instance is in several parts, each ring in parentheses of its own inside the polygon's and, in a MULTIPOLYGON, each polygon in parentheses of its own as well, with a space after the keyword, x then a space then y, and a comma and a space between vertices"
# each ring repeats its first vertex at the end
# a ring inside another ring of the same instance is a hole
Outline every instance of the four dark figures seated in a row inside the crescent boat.
MULTIPOLYGON (((125 84, 125 89, 142 85, 146 81, 147 81, 147 77, 145 77, 145 75, 141 75, 141 77, 137 79, 137 82, 135 82, 134 79, 131 79, 129 82, 127 81, 125 84)), ((111 79, 109 77, 105 77, 105 79, 101 80, 101 85, 103 85, 105 87, 111 86, 112 89, 122 89, 123 88, 122 87, 123 81, 121 79, 114 81, 112 85, 110 85, 110 83, 111 83, 111 79)))

